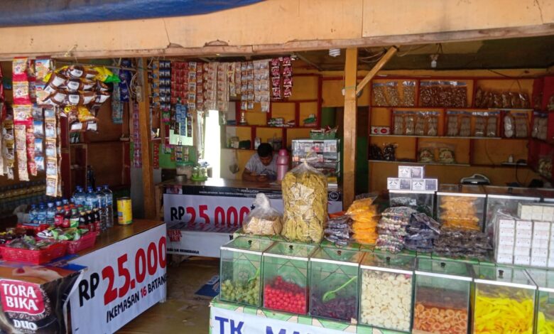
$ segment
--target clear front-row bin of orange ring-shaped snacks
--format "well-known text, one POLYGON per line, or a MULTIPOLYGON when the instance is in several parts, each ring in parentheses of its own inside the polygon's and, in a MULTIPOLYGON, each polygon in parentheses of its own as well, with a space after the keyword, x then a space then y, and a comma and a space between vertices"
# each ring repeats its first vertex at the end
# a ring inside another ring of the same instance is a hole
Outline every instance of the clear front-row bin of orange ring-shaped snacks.
POLYGON ((471 285, 469 264, 418 258, 412 333, 467 334, 471 285))

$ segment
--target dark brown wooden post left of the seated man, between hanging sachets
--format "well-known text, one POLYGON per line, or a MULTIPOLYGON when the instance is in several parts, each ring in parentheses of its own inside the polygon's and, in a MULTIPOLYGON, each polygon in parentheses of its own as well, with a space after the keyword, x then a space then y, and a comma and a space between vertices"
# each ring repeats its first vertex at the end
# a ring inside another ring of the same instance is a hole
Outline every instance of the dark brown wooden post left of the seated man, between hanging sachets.
POLYGON ((150 124, 150 105, 148 102, 148 72, 146 70, 148 61, 146 58, 139 60, 139 82, 142 90, 142 97, 139 100, 139 124, 141 136, 141 155, 142 155, 142 190, 144 217, 146 219, 159 219, 156 217, 156 203, 154 197, 154 178, 152 168, 151 152, 151 124, 150 124))

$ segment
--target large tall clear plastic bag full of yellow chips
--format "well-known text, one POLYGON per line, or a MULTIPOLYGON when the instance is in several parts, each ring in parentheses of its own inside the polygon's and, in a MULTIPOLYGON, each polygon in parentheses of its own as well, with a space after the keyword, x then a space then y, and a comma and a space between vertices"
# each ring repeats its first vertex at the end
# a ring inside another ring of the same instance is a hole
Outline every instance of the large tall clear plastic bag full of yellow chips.
POLYGON ((304 162, 286 173, 282 188, 283 237, 320 242, 327 221, 327 178, 304 162))

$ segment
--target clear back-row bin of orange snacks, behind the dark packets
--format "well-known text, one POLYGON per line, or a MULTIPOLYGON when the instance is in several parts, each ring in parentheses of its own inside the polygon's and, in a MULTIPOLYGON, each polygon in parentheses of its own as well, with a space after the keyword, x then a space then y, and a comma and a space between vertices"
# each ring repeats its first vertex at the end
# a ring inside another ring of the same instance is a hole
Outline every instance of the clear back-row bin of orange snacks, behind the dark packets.
POLYGON ((480 231, 486 200, 480 185, 442 184, 437 191, 437 219, 442 227, 480 231))

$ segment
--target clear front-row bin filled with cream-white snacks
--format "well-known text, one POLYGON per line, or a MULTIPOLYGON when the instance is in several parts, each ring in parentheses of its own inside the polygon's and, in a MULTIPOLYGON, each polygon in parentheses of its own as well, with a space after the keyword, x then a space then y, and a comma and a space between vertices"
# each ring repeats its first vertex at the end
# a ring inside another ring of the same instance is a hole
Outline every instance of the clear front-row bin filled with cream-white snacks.
POLYGON ((375 251, 360 265, 359 323, 409 332, 415 257, 375 251))

